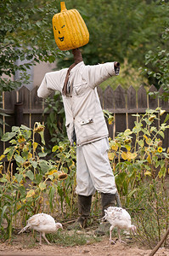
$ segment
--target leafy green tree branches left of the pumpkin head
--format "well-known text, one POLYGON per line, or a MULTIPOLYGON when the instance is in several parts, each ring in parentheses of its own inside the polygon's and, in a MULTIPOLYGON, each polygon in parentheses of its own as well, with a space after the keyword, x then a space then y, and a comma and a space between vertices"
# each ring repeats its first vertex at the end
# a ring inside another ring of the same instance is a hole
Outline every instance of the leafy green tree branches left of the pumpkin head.
POLYGON ((63 55, 54 42, 51 20, 57 13, 55 4, 54 0, 0 3, 0 90, 20 87, 29 79, 26 68, 39 61, 53 62, 63 55), (18 66, 16 61, 19 59, 26 62, 18 66), (12 81, 11 76, 18 70, 22 72, 22 78, 12 81))

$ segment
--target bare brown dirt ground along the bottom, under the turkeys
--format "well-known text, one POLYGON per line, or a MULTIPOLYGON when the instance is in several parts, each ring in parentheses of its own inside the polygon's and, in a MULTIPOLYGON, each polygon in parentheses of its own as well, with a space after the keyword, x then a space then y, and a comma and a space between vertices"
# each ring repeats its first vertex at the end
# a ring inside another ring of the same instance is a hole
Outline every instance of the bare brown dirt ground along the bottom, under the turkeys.
MULTIPOLYGON (((101 241, 93 242, 91 244, 85 244, 82 246, 65 247, 52 243, 47 245, 46 241, 42 240, 42 246, 38 241, 31 242, 32 235, 21 234, 14 236, 14 240, 11 244, 8 241, 0 243, 0 255, 25 255, 25 256, 149 256, 151 250, 147 250, 144 247, 138 247, 134 242, 127 244, 115 242, 115 245, 110 245, 109 237, 102 236, 101 241)), ((155 256, 169 256, 169 248, 161 247, 155 256)))

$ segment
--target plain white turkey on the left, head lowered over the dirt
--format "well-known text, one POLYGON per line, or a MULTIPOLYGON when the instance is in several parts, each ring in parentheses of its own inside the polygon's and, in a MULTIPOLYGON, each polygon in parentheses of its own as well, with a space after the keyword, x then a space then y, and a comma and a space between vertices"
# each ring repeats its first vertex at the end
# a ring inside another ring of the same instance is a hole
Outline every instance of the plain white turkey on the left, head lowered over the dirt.
POLYGON ((56 232, 59 229, 63 229, 62 224, 55 223, 54 218, 46 213, 37 213, 28 219, 26 226, 20 230, 23 233, 28 228, 37 230, 40 232, 40 245, 42 245, 42 237, 50 244, 45 234, 56 232))

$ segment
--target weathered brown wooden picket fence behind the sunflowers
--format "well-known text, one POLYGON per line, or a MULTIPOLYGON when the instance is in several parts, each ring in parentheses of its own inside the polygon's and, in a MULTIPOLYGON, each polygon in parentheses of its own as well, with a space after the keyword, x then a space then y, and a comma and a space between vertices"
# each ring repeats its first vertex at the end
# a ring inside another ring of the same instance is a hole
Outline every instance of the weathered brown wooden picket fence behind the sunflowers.
MULTIPOLYGON (((149 91, 155 91, 155 86, 152 85, 149 91)), ((115 138, 116 134, 125 131, 127 128, 132 129, 136 117, 133 113, 145 113, 147 108, 155 109, 161 107, 166 110, 166 113, 161 116, 161 121, 166 118, 169 113, 169 103, 163 102, 159 98, 152 98, 147 94, 144 86, 140 86, 136 91, 132 86, 128 90, 122 89, 119 85, 115 90, 108 86, 104 91, 99 87, 99 98, 104 109, 108 109, 114 113, 115 122, 109 125, 110 137, 115 138)), ((3 125, 3 132, 11 131, 13 125, 26 125, 33 128, 35 122, 41 122, 43 119, 44 101, 37 97, 37 88, 28 90, 23 86, 18 91, 3 92, 3 112, 8 114, 8 117, 3 117, 3 121, 8 125, 3 125), (18 103, 20 102, 20 103, 18 103), (20 112, 20 107, 22 112, 20 112), (19 124, 18 124, 19 123, 19 124)), ((160 125, 160 120, 156 122, 156 127, 160 125)), ((45 140, 49 141, 49 133, 46 129, 45 140)), ((0 154, 6 145, 0 142, 0 154)), ((169 147, 169 131, 165 131, 165 140, 163 147, 169 147)))

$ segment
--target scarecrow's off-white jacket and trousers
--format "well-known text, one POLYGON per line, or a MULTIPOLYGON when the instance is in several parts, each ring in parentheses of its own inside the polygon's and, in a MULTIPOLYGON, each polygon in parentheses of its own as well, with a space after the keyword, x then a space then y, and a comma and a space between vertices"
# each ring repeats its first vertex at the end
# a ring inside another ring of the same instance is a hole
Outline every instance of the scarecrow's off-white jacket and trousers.
MULTIPOLYGON (((68 68, 46 73, 37 96, 47 97, 65 82, 68 68)), ((76 193, 116 193, 115 177, 108 158, 109 132, 99 102, 97 86, 115 73, 114 62, 86 66, 79 62, 70 70, 68 95, 63 96, 65 125, 71 145, 76 133, 76 193)))

